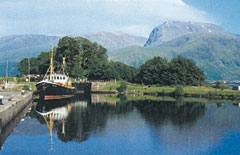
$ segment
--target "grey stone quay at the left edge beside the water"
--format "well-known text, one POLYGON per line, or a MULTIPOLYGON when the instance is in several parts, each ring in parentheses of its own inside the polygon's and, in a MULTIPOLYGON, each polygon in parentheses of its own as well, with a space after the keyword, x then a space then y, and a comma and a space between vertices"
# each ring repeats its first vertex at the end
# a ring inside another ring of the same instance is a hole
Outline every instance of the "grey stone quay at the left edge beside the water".
POLYGON ((0 92, 0 95, 4 96, 0 105, 0 129, 2 129, 32 101, 33 92, 0 92))

